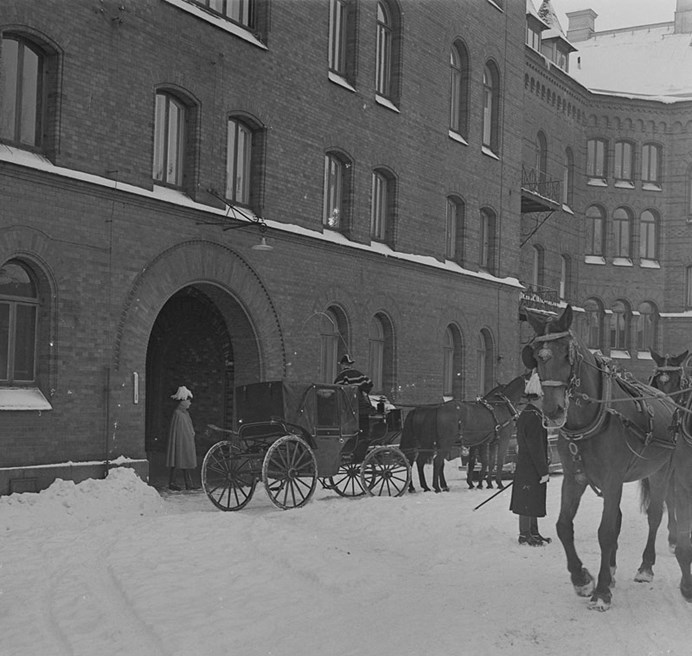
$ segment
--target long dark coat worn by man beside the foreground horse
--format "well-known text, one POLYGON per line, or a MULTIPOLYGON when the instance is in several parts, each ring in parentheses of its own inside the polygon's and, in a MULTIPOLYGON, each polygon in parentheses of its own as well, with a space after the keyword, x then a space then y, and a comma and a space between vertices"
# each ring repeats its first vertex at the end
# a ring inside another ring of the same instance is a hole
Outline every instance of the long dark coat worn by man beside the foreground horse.
POLYGON ((509 504, 513 513, 545 517, 547 483, 539 481, 548 471, 548 431, 540 410, 529 403, 517 420, 517 466, 509 504))

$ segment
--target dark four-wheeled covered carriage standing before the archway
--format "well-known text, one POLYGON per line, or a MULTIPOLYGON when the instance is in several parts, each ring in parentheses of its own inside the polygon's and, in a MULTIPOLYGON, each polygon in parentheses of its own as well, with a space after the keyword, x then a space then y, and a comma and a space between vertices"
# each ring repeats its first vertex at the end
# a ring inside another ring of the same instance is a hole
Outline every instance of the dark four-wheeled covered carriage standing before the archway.
POLYGON ((228 439, 202 463, 204 491, 221 510, 244 508, 260 480, 281 509, 305 505, 318 479, 346 497, 401 496, 408 488, 400 411, 378 404, 369 435, 361 434, 353 386, 253 383, 236 389, 234 410, 236 430, 224 430, 228 439))

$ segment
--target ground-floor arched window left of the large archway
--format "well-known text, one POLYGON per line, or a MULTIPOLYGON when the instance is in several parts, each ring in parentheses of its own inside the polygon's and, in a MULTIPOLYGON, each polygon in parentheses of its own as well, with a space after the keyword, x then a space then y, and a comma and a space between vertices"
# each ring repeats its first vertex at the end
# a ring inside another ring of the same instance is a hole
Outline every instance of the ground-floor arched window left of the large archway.
POLYGON ((36 380, 38 290, 27 267, 10 260, 0 267, 0 383, 36 380))

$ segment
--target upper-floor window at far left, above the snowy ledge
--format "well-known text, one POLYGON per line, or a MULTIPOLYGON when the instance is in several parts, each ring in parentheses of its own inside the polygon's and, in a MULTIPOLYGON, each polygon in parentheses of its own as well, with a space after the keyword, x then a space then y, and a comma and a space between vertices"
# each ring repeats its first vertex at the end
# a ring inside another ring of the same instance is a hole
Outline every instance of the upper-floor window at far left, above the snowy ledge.
POLYGON ((0 45, 0 138, 39 147, 44 121, 44 56, 20 37, 4 36, 0 45))

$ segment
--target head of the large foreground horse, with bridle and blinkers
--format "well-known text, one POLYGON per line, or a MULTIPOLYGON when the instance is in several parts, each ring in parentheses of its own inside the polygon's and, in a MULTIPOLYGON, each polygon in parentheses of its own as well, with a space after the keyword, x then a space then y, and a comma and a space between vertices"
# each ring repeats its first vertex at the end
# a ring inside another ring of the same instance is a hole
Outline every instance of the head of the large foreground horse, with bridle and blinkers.
POLYGON ((572 335, 572 306, 559 317, 528 313, 536 332, 522 351, 522 361, 536 369, 543 390, 543 415, 549 426, 562 427, 567 421, 569 392, 574 384, 577 343, 572 335))

